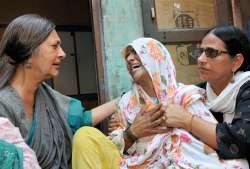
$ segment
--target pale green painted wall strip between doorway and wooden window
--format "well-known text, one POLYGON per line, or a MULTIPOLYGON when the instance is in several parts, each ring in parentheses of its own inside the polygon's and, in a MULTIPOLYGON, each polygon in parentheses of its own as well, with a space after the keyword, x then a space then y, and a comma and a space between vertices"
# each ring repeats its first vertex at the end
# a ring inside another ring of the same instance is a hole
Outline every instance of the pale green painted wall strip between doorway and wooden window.
POLYGON ((107 99, 127 91, 131 79, 121 50, 132 40, 143 36, 140 0, 102 0, 104 35, 104 77, 107 99))

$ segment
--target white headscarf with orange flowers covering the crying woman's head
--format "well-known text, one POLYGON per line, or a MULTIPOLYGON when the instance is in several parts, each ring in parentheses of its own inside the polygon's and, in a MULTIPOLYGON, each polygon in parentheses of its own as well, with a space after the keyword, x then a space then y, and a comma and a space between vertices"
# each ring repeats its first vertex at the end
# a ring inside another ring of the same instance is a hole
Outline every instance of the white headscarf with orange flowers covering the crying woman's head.
POLYGON ((130 44, 148 71, 157 98, 165 102, 168 90, 176 89, 176 73, 171 56, 165 46, 151 38, 139 38, 130 44))

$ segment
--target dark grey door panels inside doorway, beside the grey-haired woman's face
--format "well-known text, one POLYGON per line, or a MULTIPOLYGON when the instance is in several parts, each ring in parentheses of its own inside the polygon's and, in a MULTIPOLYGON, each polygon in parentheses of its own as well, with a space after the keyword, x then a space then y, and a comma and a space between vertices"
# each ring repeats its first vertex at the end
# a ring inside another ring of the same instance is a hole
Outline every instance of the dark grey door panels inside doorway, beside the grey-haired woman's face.
POLYGON ((92 32, 76 27, 58 27, 62 48, 67 54, 53 87, 81 100, 87 109, 98 105, 98 87, 92 32))

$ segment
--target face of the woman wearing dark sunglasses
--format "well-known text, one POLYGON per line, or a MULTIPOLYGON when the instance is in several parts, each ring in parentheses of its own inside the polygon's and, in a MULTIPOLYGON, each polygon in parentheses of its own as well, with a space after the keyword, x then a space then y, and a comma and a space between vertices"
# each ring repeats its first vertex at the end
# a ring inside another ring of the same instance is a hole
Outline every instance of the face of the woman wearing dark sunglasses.
POLYGON ((214 58, 208 57, 206 52, 201 53, 198 57, 200 79, 210 83, 229 82, 232 78, 233 59, 227 53, 224 42, 215 35, 208 34, 202 40, 201 48, 213 48, 225 52, 220 52, 214 58))

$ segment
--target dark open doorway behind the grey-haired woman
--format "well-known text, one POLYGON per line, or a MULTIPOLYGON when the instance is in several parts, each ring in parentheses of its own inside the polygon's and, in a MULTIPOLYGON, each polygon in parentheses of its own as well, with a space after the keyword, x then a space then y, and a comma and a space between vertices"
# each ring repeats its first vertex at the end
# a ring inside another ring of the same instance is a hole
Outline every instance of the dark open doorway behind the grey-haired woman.
POLYGON ((0 7, 0 38, 8 23, 22 14, 36 13, 56 24, 66 59, 51 85, 81 100, 87 109, 100 102, 91 10, 88 0, 8 0, 0 7))

